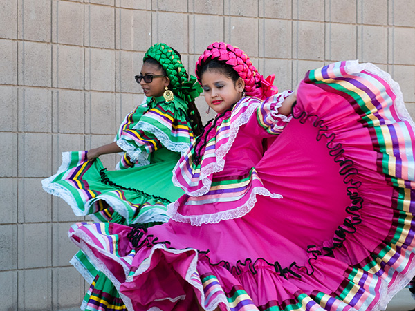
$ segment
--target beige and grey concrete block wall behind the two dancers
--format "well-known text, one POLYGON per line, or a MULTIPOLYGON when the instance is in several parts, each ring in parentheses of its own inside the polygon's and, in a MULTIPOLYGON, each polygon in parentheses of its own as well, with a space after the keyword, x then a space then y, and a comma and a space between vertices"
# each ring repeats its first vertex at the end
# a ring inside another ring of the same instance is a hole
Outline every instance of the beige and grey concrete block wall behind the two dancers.
MULTIPOLYGON (((133 75, 159 41, 191 73, 213 41, 239 46, 280 90, 330 62, 374 62, 400 83, 415 116, 412 0, 1 1, 1 310, 80 305, 87 285, 68 263, 77 249, 66 232, 82 218, 41 180, 62 151, 113 140, 142 100, 133 75)), ((116 156, 102 160, 112 168, 116 156)))

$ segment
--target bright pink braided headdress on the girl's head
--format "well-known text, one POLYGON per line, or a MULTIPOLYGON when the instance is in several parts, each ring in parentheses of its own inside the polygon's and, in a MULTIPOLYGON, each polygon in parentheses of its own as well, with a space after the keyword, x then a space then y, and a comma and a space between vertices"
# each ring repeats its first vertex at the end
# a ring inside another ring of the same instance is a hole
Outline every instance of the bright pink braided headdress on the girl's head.
POLYGON ((196 62, 196 77, 201 84, 199 73, 202 67, 211 60, 225 62, 232 66, 239 77, 245 82, 245 92, 248 96, 258 97, 265 100, 278 92, 273 86, 275 75, 270 75, 266 79, 258 73, 257 68, 252 64, 248 55, 239 48, 223 42, 210 44, 196 62))

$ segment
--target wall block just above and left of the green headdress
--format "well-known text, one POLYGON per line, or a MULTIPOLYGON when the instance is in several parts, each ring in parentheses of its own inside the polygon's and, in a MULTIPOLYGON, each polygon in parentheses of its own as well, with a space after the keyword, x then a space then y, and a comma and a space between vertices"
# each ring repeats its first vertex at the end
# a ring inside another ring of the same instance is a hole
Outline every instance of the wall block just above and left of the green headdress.
POLYGON ((151 12, 116 10, 116 48, 145 51, 151 46, 151 12))

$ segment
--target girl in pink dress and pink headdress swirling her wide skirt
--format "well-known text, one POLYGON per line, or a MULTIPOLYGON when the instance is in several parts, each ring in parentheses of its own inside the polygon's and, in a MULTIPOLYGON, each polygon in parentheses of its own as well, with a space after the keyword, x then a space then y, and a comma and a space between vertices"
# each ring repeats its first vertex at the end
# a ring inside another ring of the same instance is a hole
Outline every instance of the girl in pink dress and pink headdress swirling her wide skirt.
POLYGON ((415 274, 415 124, 398 84, 338 62, 277 93, 221 42, 196 76, 217 115, 176 164, 171 220, 78 223, 73 241, 129 310, 383 310, 415 274))

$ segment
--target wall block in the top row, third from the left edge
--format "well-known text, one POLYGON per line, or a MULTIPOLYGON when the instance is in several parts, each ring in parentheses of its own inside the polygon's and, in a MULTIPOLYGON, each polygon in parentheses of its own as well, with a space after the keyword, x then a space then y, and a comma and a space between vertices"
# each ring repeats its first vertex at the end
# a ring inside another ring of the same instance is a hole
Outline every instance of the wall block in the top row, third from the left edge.
POLYGON ((84 3, 53 1, 52 38, 60 44, 84 45, 84 3))

